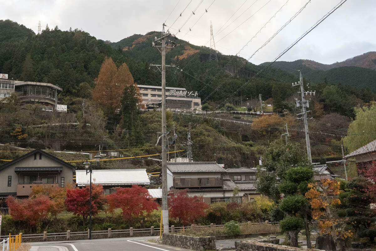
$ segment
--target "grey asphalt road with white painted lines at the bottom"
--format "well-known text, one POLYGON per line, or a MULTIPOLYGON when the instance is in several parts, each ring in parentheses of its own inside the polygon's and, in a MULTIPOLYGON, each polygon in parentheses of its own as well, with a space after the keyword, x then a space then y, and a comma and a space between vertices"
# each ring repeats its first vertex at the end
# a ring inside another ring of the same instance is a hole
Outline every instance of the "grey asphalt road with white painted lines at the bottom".
POLYGON ((177 248, 173 246, 162 245, 158 243, 148 242, 147 240, 155 239, 155 236, 146 237, 127 237, 112 239, 95 239, 95 240, 75 240, 68 242, 32 242, 30 250, 39 251, 187 251, 188 249, 177 248), (47 247, 49 246, 49 247, 47 247), (56 246, 65 247, 58 249, 56 246), (65 250, 67 250, 65 249, 65 250))

